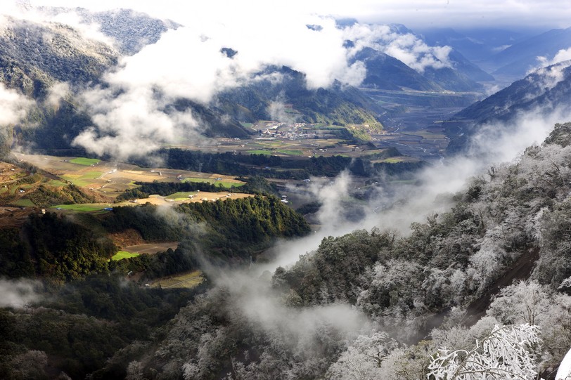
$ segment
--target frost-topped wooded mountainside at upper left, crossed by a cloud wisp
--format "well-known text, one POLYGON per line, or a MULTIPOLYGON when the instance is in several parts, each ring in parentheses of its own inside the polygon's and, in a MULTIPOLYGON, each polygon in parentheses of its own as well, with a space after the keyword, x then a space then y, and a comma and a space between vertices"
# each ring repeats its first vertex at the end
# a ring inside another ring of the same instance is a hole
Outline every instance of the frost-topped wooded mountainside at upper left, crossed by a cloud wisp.
POLYGON ((0 30, 0 82, 34 100, 26 118, 9 126, 15 143, 69 148, 72 138, 91 125, 71 94, 98 83, 119 56, 112 46, 86 39, 68 25, 6 18, 0 30))

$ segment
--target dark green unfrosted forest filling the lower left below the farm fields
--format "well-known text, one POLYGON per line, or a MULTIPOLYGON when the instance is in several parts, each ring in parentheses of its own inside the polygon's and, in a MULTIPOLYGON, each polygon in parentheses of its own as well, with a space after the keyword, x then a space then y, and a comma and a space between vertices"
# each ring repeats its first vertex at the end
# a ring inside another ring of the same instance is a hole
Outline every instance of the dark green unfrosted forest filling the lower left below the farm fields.
POLYGON ((124 361, 155 346, 179 308, 208 287, 146 289, 145 281, 243 265, 277 237, 307 234, 309 225, 279 199, 256 196, 174 209, 115 207, 103 216, 31 214, 22 228, 0 232, 0 276, 18 281, 15 299, 33 294, 27 308, 0 310, 0 377, 109 379, 124 377, 124 361), (110 260, 117 247, 109 234, 124 230, 179 247, 110 260), (127 273, 141 276, 126 281, 127 273))

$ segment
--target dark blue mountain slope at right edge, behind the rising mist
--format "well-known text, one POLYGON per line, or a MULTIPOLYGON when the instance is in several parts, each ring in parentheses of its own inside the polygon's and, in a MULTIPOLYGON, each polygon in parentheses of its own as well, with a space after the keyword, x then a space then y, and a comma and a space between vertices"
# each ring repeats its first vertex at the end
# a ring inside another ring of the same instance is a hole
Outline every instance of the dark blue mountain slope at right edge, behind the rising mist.
POLYGON ((483 124, 508 122, 522 112, 548 115, 571 110, 571 61, 551 65, 515 81, 494 95, 458 112, 447 122, 448 152, 467 148, 470 136, 483 124))

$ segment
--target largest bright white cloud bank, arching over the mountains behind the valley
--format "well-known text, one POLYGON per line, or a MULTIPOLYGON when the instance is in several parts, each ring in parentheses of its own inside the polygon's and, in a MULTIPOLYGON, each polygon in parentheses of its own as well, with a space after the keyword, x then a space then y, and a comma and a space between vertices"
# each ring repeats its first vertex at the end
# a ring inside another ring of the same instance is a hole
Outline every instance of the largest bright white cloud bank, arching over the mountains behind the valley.
POLYGON ((75 144, 124 159, 179 136, 193 136, 204 128, 200 120, 190 112, 165 110, 170 102, 188 98, 210 103, 220 91, 256 80, 269 65, 304 72, 309 89, 331 86, 335 79, 358 85, 364 66, 349 65, 343 42, 335 20, 314 15, 256 22, 201 20, 169 30, 155 44, 122 58, 103 77, 108 86, 84 93, 95 126, 75 144), (222 48, 238 53, 229 58, 222 48))

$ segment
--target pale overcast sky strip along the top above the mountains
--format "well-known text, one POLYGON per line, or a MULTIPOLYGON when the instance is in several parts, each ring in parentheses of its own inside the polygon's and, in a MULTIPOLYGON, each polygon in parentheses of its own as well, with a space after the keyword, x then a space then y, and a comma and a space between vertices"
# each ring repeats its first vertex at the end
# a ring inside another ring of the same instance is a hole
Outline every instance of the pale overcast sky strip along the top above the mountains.
MULTIPOLYGON (((3 1, 4 2, 4 1, 3 1)), ((401 23, 411 28, 529 26, 570 27, 569 0, 31 0, 34 5, 82 6, 109 9, 122 6, 151 15, 189 22, 195 17, 228 20, 255 17, 280 17, 283 13, 317 13, 360 22, 401 23), (207 4, 206 4, 207 3, 207 4)))

